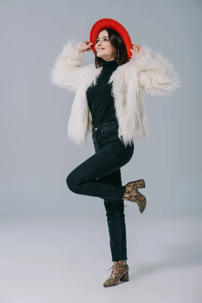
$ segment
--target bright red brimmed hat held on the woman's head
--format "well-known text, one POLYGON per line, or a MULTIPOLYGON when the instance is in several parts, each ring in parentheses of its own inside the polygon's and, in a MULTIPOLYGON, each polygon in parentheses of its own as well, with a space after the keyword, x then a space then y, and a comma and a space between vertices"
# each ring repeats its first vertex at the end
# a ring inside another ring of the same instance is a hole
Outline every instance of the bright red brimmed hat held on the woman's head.
POLYGON ((100 30, 102 30, 105 27, 112 28, 121 35, 121 37, 126 45, 128 59, 130 60, 132 57, 132 53, 130 51, 130 48, 132 49, 132 42, 131 42, 130 36, 129 36, 127 30, 125 29, 125 27, 123 27, 123 25, 121 25, 121 23, 119 23, 116 20, 110 19, 110 18, 99 19, 97 22, 95 22, 95 24, 92 26, 92 28, 90 30, 90 42, 93 42, 93 44, 91 46, 93 53, 95 54, 95 44, 96 44, 97 35, 100 32, 100 30))

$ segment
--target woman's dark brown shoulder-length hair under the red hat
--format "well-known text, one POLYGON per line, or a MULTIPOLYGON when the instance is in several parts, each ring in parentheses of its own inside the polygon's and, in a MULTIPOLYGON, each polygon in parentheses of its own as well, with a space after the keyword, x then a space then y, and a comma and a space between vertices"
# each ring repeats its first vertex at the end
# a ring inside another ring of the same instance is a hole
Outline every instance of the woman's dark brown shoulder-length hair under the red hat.
MULTIPOLYGON (((122 64, 127 63, 129 61, 128 56, 127 56, 127 49, 126 49, 126 45, 125 45, 121 35, 112 28, 103 28, 102 30, 100 30, 100 32, 102 32, 103 30, 106 30, 108 32, 109 41, 112 44, 112 46, 114 47, 114 49, 116 50, 114 59, 116 60, 117 64, 122 65, 122 64)), ((99 35, 99 33, 98 33, 98 35, 99 35)), ((97 35, 97 37, 98 37, 98 35, 97 35)), ((96 41, 97 41, 97 38, 96 38, 96 41)), ((96 41, 95 41, 95 44, 96 44, 96 41)), ((102 66, 102 61, 103 61, 102 58, 97 57, 97 52, 95 49, 95 67, 98 68, 98 67, 102 66)))

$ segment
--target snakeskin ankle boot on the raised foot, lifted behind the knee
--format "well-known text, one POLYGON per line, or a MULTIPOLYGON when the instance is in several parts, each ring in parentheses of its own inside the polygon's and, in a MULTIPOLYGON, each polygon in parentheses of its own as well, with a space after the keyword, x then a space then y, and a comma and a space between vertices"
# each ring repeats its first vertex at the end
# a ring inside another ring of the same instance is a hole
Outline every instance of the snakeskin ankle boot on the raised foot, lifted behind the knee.
POLYGON ((146 207, 146 198, 138 191, 138 188, 145 188, 143 179, 128 182, 125 185, 125 192, 122 200, 135 202, 139 207, 140 213, 143 213, 146 207))

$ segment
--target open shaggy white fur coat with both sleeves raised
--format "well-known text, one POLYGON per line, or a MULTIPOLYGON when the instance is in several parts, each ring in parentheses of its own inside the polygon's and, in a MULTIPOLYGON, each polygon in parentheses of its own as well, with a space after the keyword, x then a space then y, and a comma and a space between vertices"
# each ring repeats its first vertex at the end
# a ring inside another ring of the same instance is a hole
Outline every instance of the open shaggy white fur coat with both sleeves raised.
MULTIPOLYGON (((79 146, 84 144, 92 130, 86 90, 96 84, 102 71, 102 67, 96 68, 94 64, 81 66, 85 53, 76 48, 80 43, 69 39, 51 69, 51 81, 75 93, 67 129, 68 137, 79 146)), ((132 56, 129 62, 118 66, 109 80, 119 123, 118 135, 125 146, 148 135, 143 93, 166 95, 180 83, 178 73, 167 59, 148 46, 142 48, 141 56, 132 56)))

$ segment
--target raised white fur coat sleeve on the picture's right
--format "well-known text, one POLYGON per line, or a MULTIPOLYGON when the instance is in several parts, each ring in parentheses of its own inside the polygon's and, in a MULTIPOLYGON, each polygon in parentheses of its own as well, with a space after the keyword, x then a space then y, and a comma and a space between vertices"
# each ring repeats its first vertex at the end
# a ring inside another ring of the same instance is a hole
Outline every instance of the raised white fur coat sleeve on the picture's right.
POLYGON ((180 84, 180 77, 173 65, 148 46, 143 45, 141 56, 135 58, 134 64, 139 75, 139 85, 144 92, 166 95, 180 84))

